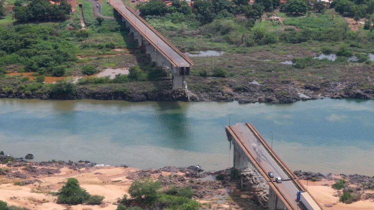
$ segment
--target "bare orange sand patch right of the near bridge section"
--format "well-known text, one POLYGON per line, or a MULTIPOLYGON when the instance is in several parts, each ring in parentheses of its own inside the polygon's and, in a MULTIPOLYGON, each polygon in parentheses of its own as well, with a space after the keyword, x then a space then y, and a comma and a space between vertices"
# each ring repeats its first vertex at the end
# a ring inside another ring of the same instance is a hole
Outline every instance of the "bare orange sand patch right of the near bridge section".
MULTIPOLYGON (((301 180, 301 183, 306 187, 306 180, 301 180)), ((345 204, 339 202, 339 197, 333 196, 336 189, 331 187, 334 181, 328 181, 323 179, 322 181, 308 181, 307 190, 313 195, 313 197, 323 206, 324 209, 340 210, 340 209, 374 209, 374 202, 371 200, 360 200, 351 204, 345 204), (328 186, 324 186, 328 184, 328 186), (333 204, 332 207, 324 207, 324 204, 333 204)))

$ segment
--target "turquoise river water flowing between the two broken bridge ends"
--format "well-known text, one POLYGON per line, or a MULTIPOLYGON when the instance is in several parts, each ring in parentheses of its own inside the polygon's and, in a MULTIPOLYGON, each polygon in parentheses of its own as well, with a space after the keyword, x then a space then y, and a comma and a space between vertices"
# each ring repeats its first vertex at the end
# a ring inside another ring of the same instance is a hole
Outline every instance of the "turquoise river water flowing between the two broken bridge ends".
POLYGON ((0 99, 0 150, 139 168, 232 166, 224 126, 251 122, 291 169, 374 175, 374 100, 292 104, 0 99), (229 117, 230 116, 230 117, 229 117))

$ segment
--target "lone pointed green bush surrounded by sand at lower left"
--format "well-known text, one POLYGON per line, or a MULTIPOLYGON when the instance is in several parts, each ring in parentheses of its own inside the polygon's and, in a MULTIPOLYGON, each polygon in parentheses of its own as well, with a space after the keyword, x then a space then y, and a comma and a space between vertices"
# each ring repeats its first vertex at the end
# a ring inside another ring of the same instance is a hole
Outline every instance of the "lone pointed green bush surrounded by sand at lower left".
POLYGON ((76 178, 68 178, 65 185, 58 191, 57 203, 81 204, 89 198, 89 193, 79 186, 76 178))

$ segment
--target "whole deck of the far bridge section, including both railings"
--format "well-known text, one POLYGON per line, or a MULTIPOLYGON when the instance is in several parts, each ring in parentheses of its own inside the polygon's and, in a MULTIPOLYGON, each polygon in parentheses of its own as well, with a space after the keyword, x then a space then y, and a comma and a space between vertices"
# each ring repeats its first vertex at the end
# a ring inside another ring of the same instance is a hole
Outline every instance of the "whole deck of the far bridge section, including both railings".
POLYGON ((129 7, 125 6, 121 0, 110 0, 118 13, 128 21, 137 32, 139 32, 150 44, 154 46, 170 63, 177 67, 192 66, 193 62, 178 50, 174 45, 166 40, 156 29, 150 26, 143 18, 129 7))

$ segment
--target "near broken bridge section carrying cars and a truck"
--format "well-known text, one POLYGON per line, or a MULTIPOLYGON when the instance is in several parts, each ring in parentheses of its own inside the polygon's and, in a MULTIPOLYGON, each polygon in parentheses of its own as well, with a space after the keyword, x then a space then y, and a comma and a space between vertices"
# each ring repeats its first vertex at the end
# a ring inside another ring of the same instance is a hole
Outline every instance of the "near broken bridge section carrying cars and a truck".
POLYGON ((226 135, 233 145, 234 168, 258 171, 268 183, 269 209, 322 209, 252 124, 226 126, 226 135), (270 177, 269 172, 274 177, 270 177), (275 181, 275 177, 283 180, 275 181))

